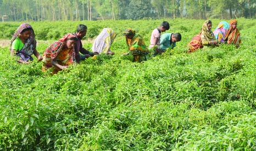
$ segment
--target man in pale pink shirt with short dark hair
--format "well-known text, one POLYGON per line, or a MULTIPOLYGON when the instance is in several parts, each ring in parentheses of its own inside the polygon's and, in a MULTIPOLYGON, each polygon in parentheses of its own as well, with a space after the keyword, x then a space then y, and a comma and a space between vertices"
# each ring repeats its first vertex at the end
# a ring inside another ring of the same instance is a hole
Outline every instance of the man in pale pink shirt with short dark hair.
POLYGON ((149 51, 153 54, 153 56, 160 54, 160 36, 162 32, 169 30, 170 25, 169 22, 163 21, 159 27, 155 28, 151 33, 149 51))

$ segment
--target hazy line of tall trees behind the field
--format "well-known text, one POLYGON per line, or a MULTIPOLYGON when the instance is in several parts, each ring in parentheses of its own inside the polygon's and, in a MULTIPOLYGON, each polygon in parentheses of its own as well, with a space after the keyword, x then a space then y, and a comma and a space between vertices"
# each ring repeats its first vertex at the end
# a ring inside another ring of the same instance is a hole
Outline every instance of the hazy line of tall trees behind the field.
POLYGON ((255 8, 256 0, 0 0, 3 21, 255 18, 255 8))

